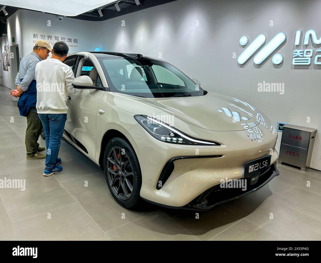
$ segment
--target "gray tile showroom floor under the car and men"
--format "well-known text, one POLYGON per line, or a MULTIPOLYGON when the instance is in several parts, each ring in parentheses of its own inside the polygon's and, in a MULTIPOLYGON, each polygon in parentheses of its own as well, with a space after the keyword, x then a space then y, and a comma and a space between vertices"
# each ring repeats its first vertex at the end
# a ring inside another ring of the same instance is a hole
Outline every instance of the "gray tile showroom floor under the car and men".
POLYGON ((268 185, 199 219, 119 206, 100 168, 64 141, 64 170, 44 177, 44 160, 26 159, 26 118, 9 91, 0 85, 0 179, 25 179, 26 189, 0 188, 0 240, 321 240, 321 173, 313 169, 278 165, 268 185))

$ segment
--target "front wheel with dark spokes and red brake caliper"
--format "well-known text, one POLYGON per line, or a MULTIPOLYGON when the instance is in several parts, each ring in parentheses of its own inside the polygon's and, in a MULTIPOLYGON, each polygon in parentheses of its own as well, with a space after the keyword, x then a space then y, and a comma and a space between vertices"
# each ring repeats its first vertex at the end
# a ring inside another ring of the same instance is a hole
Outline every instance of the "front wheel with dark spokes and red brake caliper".
POLYGON ((137 155, 128 141, 115 137, 108 142, 104 154, 104 172, 109 191, 120 205, 128 209, 141 206, 142 173, 137 155))

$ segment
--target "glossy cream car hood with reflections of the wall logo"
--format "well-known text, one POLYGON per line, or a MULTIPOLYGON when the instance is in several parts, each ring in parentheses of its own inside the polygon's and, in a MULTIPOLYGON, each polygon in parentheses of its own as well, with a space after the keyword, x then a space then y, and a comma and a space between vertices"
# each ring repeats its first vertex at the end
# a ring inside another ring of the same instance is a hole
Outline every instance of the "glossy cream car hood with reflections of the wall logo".
POLYGON ((214 92, 200 97, 138 100, 190 124, 212 131, 247 130, 257 126, 261 121, 261 115, 249 103, 214 92))

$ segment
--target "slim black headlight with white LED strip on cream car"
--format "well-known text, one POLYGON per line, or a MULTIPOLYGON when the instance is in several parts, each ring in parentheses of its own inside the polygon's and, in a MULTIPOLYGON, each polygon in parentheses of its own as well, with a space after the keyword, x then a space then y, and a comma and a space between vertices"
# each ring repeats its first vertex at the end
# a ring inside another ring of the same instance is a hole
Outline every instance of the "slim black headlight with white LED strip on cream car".
POLYGON ((167 123, 146 115, 135 115, 135 120, 157 140, 166 143, 188 145, 220 145, 216 142, 192 138, 167 123))

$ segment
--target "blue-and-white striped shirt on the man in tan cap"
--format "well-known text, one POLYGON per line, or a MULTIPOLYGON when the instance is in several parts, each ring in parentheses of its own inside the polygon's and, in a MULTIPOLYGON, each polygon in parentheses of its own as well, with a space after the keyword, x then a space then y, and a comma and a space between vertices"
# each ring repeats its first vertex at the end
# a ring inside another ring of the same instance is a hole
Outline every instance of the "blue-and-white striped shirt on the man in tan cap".
POLYGON ((36 80, 36 65, 39 61, 42 61, 42 59, 33 51, 21 59, 15 84, 21 87, 23 91, 28 90, 31 81, 36 80), (20 81, 20 79, 23 80, 20 81))

